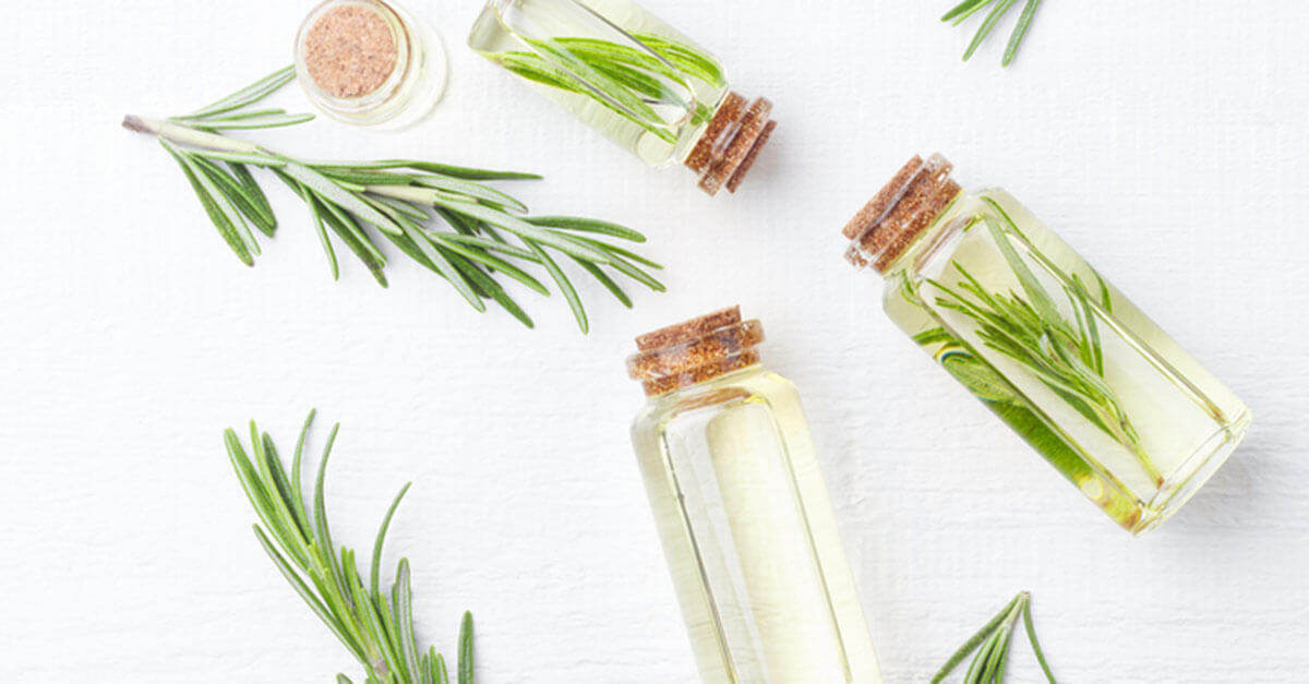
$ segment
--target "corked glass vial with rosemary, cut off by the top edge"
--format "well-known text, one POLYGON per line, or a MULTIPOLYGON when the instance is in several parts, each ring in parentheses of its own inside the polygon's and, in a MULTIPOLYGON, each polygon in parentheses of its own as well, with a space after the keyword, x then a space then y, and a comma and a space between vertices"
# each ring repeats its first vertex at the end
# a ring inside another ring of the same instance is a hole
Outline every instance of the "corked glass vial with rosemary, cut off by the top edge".
POLYGON ((734 193, 776 123, 704 48, 631 0, 490 0, 469 46, 652 166, 734 193))

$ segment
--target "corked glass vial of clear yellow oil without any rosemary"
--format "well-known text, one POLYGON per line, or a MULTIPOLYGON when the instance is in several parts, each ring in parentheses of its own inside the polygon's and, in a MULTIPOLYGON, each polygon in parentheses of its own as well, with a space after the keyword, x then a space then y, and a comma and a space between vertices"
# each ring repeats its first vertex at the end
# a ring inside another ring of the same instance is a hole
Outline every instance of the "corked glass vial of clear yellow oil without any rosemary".
POLYGON ((636 339, 632 425, 654 522, 708 684, 880 683, 795 385, 733 307, 636 339))

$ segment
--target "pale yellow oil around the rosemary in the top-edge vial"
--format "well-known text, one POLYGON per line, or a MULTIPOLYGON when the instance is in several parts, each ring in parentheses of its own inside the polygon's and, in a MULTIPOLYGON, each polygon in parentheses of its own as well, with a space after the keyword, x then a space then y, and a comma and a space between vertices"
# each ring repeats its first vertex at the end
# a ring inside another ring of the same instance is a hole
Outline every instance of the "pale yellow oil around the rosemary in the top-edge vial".
MULTIPOLYGON (((649 52, 634 39, 634 34, 658 35, 708 55, 681 31, 631 0, 492 0, 478 17, 469 45, 497 63, 503 63, 505 54, 535 52, 534 41, 560 38, 607 41, 649 52)), ((528 83, 647 164, 660 166, 679 162, 690 153, 707 123, 703 113, 713 111, 728 92, 725 83, 706 83, 685 73, 660 80, 664 94, 643 100, 656 115, 653 121, 644 119, 661 135, 618 114, 615 107, 623 107, 611 100, 606 106, 602 89, 583 94, 528 83), (700 117, 696 117, 698 109, 700 117)))

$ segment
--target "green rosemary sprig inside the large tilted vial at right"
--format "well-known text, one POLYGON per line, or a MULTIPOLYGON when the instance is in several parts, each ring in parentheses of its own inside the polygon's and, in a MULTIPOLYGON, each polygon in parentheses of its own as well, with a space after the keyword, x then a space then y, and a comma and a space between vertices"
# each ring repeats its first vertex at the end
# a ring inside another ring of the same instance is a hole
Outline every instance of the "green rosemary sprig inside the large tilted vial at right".
MULTIPOLYGON (((997 204, 992 202, 992 207, 1001 220, 1008 221, 997 204)), ((965 278, 957 288, 928 280, 945 294, 937 297, 937 304, 971 318, 987 347, 1030 371, 1086 421, 1131 451, 1145 474, 1156 485, 1162 485, 1164 476, 1141 447, 1140 435, 1118 394, 1105 381, 1105 354, 1096 317, 1101 311, 1113 312, 1109 286, 1097 275, 1097 295, 1093 295, 1076 274, 1069 276, 1046 263, 1063 283, 1063 294, 1073 311, 1073 320, 1069 321, 1059 313, 1054 296, 1011 242, 1011 235, 1020 235, 1017 227, 1012 221, 1004 229, 994 221, 986 221, 986 227, 1017 278, 1022 295, 987 292, 963 265, 954 262, 956 270, 965 278)))

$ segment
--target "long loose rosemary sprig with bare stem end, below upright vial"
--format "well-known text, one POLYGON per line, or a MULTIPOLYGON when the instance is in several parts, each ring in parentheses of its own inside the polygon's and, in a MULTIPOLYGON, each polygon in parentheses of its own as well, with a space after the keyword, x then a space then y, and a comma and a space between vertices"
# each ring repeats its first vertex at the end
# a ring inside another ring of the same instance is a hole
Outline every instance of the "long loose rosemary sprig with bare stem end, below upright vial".
POLYGON ((123 119, 126 128, 158 138, 181 165, 223 240, 247 266, 259 254, 254 231, 271 237, 278 228, 272 207, 250 173, 251 166, 258 166, 275 174, 309 207, 334 279, 340 273, 331 236, 386 287, 387 258, 377 246, 380 235, 445 278, 476 311, 486 311, 484 300, 493 300, 529 328, 531 318, 500 276, 548 296, 550 290, 525 270, 538 265, 563 292, 579 328, 584 333, 589 329, 581 299, 555 261, 560 254, 627 307, 631 300, 618 286, 618 276, 658 292, 665 290, 644 270, 658 269, 657 263, 611 242, 644 242, 641 233, 596 219, 528 216, 525 204, 480 182, 539 176, 416 160, 309 161, 224 134, 310 121, 310 114, 254 107, 292 79, 295 71, 287 67, 187 115, 123 119), (437 220, 444 221, 444 229, 437 220))

